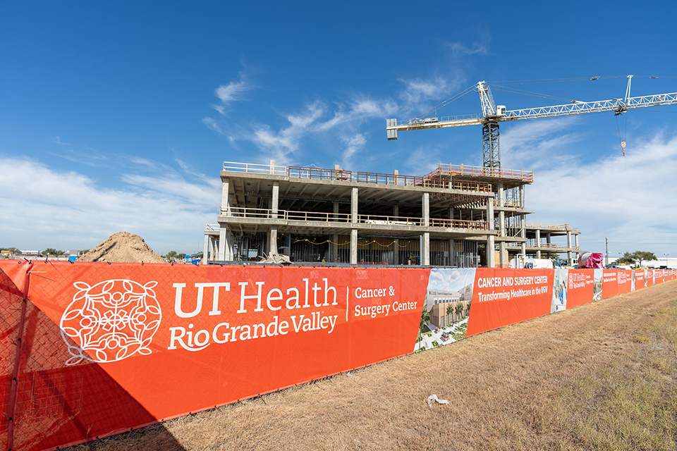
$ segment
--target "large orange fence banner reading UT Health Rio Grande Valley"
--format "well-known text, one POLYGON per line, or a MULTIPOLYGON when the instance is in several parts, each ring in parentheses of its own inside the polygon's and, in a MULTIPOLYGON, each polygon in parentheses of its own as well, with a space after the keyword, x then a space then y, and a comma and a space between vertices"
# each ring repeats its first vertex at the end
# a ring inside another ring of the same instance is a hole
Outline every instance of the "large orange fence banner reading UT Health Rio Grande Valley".
POLYGON ((16 261, 0 262, 0 271, 2 402, 5 412, 14 405, 0 432, 21 450, 72 445, 409 354, 429 275, 16 261), (17 283, 27 271, 10 402, 17 283))

